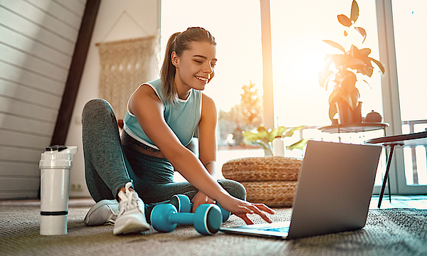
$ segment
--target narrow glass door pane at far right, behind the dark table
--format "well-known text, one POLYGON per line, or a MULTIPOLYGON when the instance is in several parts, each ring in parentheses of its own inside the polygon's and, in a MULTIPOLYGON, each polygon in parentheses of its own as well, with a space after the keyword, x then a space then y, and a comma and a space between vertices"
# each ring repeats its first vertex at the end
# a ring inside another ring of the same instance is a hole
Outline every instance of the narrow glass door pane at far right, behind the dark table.
MULTIPOLYGON (((427 130, 427 2, 392 0, 402 133, 427 130)), ((398 170, 399 193, 427 193, 426 146, 406 147, 398 170)))

